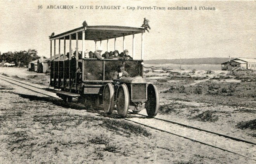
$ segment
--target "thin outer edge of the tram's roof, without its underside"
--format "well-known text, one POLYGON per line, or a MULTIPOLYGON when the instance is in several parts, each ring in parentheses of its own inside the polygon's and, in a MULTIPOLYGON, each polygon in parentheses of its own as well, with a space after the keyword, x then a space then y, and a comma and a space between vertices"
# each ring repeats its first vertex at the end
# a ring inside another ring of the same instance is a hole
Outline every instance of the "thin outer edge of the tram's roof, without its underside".
POLYGON ((64 38, 64 36, 68 36, 71 34, 75 34, 77 32, 83 31, 83 30, 116 30, 116 31, 137 31, 139 33, 145 33, 144 28, 135 28, 135 27, 127 27, 127 26, 85 26, 85 27, 80 27, 80 28, 75 28, 69 31, 66 31, 64 33, 60 33, 58 35, 52 36, 50 38, 51 40, 59 39, 59 38, 64 38))

